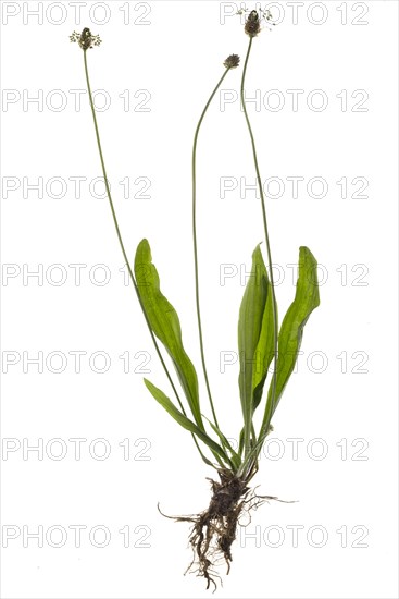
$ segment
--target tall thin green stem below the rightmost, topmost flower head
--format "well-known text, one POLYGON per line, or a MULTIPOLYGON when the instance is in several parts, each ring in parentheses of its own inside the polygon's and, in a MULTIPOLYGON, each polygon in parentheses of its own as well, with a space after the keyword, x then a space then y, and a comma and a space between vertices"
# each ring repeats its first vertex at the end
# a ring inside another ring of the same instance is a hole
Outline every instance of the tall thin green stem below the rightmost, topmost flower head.
MULTIPOLYGON (((253 37, 250 36, 248 50, 247 50, 247 56, 246 56, 246 61, 245 61, 244 70, 242 70, 241 90, 240 91, 241 91, 241 106, 242 106, 244 114, 245 114, 245 118, 246 118, 249 135, 250 135, 250 138, 251 138, 253 162, 254 162, 254 168, 255 168, 255 172, 257 172, 257 183, 258 183, 259 193, 260 193, 260 196, 261 196, 262 219, 263 219, 264 236, 265 236, 265 242, 266 242, 267 264, 269 264, 269 276, 270 276, 271 290, 272 290, 273 331, 274 331, 274 372, 273 372, 273 380, 272 380, 272 413, 273 413, 273 406, 274 406, 274 403, 275 403, 276 387, 277 387, 277 353, 278 353, 277 302, 276 302, 276 296, 275 296, 275 291, 274 291, 274 278, 273 278, 273 268, 272 268, 272 252, 271 252, 270 237, 269 237, 267 218, 266 218, 266 208, 265 208, 265 201, 264 201, 263 186, 262 186, 262 180, 261 180, 259 164, 258 164, 257 147, 255 147, 255 143, 254 143, 254 137, 253 137, 253 133, 252 133, 251 123, 250 123, 249 118, 248 118, 247 106, 246 106, 245 94, 244 94, 248 60, 249 60, 249 56, 250 56, 251 48, 252 48, 252 39, 253 39, 253 37)), ((245 455, 246 456, 251 451, 251 449, 250 449, 250 439, 248 438, 248 436, 250 436, 249 430, 247 431, 247 439, 246 439, 246 442, 245 442, 245 448, 246 448, 246 454, 245 455)), ((258 457, 258 454, 257 454, 257 457, 258 457)))

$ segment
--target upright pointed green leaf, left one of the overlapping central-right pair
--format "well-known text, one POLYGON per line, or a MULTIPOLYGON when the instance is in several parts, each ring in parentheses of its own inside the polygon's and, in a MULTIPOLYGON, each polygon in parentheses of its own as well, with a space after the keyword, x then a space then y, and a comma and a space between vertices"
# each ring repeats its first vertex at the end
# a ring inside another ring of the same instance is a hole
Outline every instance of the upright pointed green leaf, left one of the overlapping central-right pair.
POLYGON ((263 311, 267 298, 265 267, 258 245, 252 254, 252 269, 249 277, 238 319, 238 352, 240 371, 238 378, 244 416, 244 445, 249 449, 253 414, 254 353, 261 334, 263 311))

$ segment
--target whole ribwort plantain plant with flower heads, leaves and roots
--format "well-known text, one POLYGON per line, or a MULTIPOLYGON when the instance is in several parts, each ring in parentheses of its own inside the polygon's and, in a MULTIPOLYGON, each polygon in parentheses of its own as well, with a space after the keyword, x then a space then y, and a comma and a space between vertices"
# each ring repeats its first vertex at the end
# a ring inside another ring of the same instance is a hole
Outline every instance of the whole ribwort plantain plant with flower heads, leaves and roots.
POLYGON ((208 417, 203 415, 203 406, 200 401, 197 371, 184 349, 177 313, 161 292, 160 279, 157 268, 152 262, 149 242, 144 239, 139 243, 136 250, 134 268, 132 268, 122 240, 111 191, 108 184, 105 163, 88 74, 87 50, 93 46, 99 46, 101 40, 98 36, 93 36, 88 28, 85 28, 82 34, 74 32, 71 36, 71 40, 79 45, 84 54, 86 83, 98 151, 116 235, 152 343, 171 384, 174 401, 149 380, 144 379, 144 382, 155 401, 172 416, 172 418, 191 433, 202 460, 208 466, 216 470, 219 477, 217 480, 211 480, 212 497, 208 509, 194 516, 173 516, 173 519, 176 522, 188 522, 192 525, 189 540, 194 550, 194 559, 188 570, 197 572, 199 576, 203 576, 207 580, 207 588, 209 588, 211 584, 216 588, 216 579, 220 579, 216 566, 220 564, 221 559, 227 565, 227 573, 229 572, 233 559, 232 545, 236 538, 237 526, 239 525, 242 513, 250 512, 269 499, 277 499, 270 496, 257 494, 255 491, 249 487, 249 484, 258 472, 260 451, 267 435, 273 430, 271 424, 273 415, 275 414, 289 377, 294 371, 302 341, 304 325, 312 310, 320 304, 316 260, 308 247, 301 246, 299 248, 298 280, 295 298, 280 327, 278 327, 277 301, 273 280, 273 262, 265 198, 259 169, 255 140, 245 100, 245 83, 250 52, 253 39, 261 30, 262 20, 265 20, 265 22, 270 24, 271 15, 267 11, 251 11, 245 22, 245 33, 249 37, 249 44, 241 76, 240 99, 252 149, 257 185, 261 198, 267 268, 263 260, 260 244, 258 244, 252 254, 251 276, 239 307, 238 352, 240 369, 238 387, 242 411, 242 428, 239 432, 239 443, 236 450, 232 447, 226 435, 223 432, 223 427, 217 420, 216 408, 207 370, 200 310, 196 216, 197 144, 200 129, 208 108, 227 76, 227 73, 239 65, 239 57, 237 54, 230 54, 224 61, 224 71, 200 115, 192 144, 191 174, 195 291, 201 367, 212 418, 208 419, 208 417), (169 366, 162 356, 159 342, 166 350, 174 366, 179 386, 185 396, 185 404, 180 399, 169 366), (267 392, 265 392, 265 383, 270 371, 271 381, 267 392), (258 431, 254 426, 254 414, 257 409, 263 411, 262 423, 258 431))

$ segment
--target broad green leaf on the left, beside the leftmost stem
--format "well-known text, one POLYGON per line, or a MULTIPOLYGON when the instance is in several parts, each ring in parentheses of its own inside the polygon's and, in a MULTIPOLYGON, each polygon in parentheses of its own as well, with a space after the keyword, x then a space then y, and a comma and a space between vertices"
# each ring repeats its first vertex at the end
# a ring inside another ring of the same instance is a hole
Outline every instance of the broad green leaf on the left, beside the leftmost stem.
POLYGON ((163 343, 173 360, 192 416, 203 430, 197 372, 183 346, 177 313, 161 293, 160 278, 151 259, 150 245, 147 240, 142 240, 137 247, 135 257, 138 293, 152 331, 163 343))

